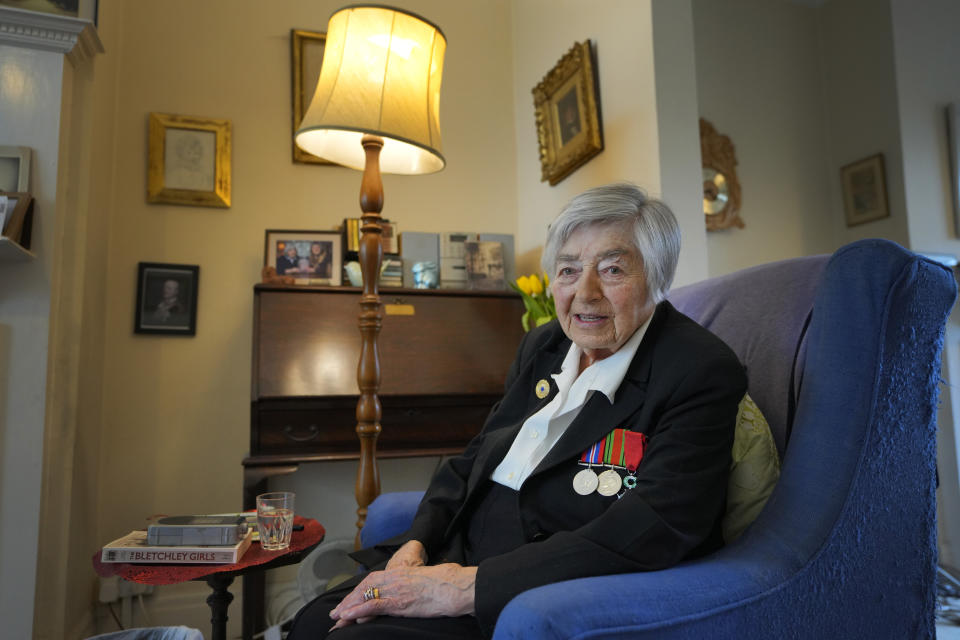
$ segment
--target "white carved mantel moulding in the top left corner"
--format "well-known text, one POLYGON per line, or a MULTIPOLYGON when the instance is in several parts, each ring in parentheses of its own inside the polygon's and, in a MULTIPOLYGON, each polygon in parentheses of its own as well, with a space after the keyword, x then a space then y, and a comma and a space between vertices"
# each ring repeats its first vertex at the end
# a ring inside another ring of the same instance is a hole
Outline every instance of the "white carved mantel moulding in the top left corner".
POLYGON ((0 7, 0 45, 64 53, 74 64, 103 53, 89 20, 9 7, 0 7))

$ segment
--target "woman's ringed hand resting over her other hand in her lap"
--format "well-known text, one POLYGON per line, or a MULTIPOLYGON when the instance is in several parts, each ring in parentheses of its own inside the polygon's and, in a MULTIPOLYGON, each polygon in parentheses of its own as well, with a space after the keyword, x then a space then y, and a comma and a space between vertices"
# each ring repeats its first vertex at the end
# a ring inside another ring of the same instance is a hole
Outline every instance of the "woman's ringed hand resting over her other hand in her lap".
POLYGON ((473 614, 476 577, 476 567, 453 563, 374 571, 330 612, 336 620, 333 629, 376 616, 439 618, 473 614), (369 588, 378 589, 380 597, 364 602, 363 593, 369 588))

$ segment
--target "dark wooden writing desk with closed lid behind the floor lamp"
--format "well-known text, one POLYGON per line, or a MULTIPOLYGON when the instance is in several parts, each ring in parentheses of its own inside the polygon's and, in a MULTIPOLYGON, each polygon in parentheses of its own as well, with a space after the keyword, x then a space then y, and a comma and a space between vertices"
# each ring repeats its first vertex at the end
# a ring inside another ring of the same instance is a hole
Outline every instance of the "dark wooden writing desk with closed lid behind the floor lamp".
MULTIPOLYGON (((508 292, 381 289, 377 456, 463 450, 503 394, 523 337, 508 292)), ((359 457, 360 290, 254 287, 250 455, 243 505, 305 462, 359 457)), ((263 628, 263 575, 244 578, 244 637, 263 628)))

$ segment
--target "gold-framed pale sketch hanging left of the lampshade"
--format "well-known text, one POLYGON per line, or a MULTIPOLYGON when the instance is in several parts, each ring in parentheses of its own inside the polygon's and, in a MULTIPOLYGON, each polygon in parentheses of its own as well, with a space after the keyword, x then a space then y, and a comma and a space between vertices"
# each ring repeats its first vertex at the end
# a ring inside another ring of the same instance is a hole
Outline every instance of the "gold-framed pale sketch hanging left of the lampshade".
POLYGON ((151 113, 147 202, 230 206, 229 120, 151 113))

